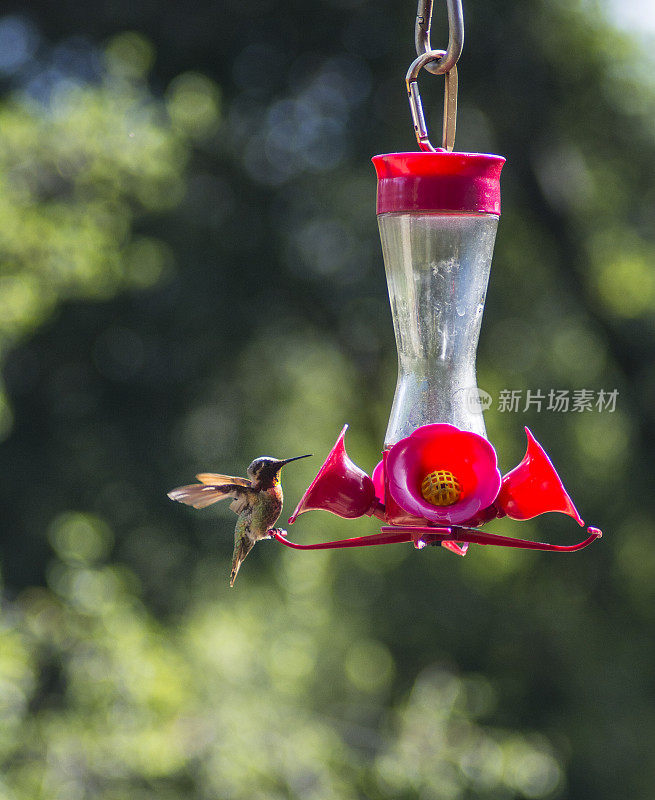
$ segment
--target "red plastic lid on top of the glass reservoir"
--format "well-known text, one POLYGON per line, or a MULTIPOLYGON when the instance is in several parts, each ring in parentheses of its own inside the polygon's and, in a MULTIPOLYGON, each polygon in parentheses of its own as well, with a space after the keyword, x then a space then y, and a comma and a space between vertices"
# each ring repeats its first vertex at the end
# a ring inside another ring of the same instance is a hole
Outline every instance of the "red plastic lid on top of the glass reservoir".
POLYGON ((464 211, 500 214, 502 156, 482 153, 387 153, 374 156, 377 213, 464 211))

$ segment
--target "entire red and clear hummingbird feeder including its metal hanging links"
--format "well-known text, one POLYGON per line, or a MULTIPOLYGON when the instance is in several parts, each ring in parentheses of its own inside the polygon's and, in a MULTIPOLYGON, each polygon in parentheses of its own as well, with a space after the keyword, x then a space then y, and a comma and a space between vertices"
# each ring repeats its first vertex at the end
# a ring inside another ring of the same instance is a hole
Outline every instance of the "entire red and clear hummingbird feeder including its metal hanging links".
POLYGON ((398 350, 398 381, 382 460, 371 476, 348 457, 344 426, 289 522, 307 511, 353 519, 368 515, 380 533, 302 550, 413 542, 465 555, 469 543, 572 552, 602 534, 563 546, 480 529, 508 516, 557 511, 584 525, 541 445, 526 428, 523 460, 505 476, 486 438, 475 357, 500 216, 502 156, 453 152, 457 67, 464 26, 461 0, 447 0, 447 50, 430 45, 432 0, 419 0, 417 58, 406 77, 419 152, 373 158, 377 218, 398 350), (442 147, 430 144, 418 90, 422 69, 444 75, 442 147))

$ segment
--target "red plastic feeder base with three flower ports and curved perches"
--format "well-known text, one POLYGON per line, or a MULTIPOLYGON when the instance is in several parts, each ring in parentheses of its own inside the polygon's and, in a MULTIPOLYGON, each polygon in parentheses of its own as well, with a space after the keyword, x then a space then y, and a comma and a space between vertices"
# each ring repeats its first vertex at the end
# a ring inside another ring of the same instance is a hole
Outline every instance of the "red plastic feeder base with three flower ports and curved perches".
POLYGON ((475 527, 498 517, 526 520, 551 511, 584 524, 528 428, 525 456, 502 479, 492 445, 478 434, 446 423, 423 425, 401 439, 384 453, 371 479, 346 454, 346 428, 289 521, 306 511, 325 510, 345 518, 375 516, 387 524, 379 534, 309 545, 274 533, 283 544, 315 550, 412 541, 419 548, 441 544, 460 555, 468 543, 571 552, 602 535, 590 527, 583 542, 553 545, 475 527))

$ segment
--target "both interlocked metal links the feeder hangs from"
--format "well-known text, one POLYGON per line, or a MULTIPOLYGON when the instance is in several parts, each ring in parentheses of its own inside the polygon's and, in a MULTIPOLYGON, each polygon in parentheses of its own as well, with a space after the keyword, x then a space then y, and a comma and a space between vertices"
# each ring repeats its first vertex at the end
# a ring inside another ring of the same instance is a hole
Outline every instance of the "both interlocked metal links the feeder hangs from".
POLYGON ((423 103, 418 89, 418 76, 425 68, 433 75, 444 75, 444 112, 442 149, 451 152, 455 146, 457 125, 457 61, 464 46, 464 15, 461 0, 446 0, 448 10, 448 49, 433 50, 430 43, 433 0, 419 0, 414 39, 418 57, 407 70, 406 83, 409 108, 414 123, 416 140, 421 150, 436 152, 430 143, 425 124, 423 103))

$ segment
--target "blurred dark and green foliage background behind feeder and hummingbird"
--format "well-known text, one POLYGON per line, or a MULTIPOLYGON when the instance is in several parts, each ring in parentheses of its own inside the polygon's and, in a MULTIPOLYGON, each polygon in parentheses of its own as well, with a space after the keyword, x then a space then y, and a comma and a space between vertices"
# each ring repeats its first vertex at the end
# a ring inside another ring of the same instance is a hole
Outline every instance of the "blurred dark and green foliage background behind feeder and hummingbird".
MULTIPOLYGON (((293 504, 346 421, 355 462, 379 458, 395 348, 368 159, 414 147, 415 7, 3 13, 0 797, 650 797, 652 55, 594 2, 466 4, 457 145, 508 158, 480 386, 620 392, 614 413, 492 409, 489 436, 506 470, 529 424, 605 538, 263 543, 230 591, 229 511, 169 488, 313 451, 293 504)), ((517 527, 495 529, 577 535, 517 527)), ((372 530, 316 514, 294 538, 372 530)))

